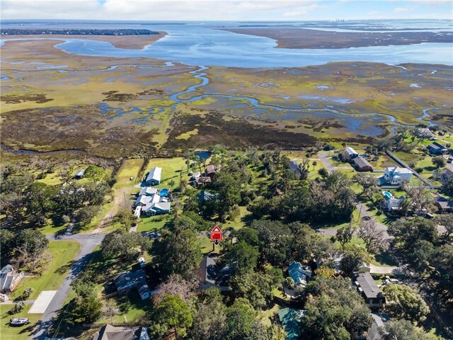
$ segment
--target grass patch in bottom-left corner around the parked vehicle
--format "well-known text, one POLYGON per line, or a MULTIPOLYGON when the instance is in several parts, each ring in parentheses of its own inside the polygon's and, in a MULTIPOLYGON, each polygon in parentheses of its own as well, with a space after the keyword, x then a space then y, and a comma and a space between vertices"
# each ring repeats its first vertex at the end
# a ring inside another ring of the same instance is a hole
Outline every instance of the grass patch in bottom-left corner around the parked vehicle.
POLYGON ((22 312, 10 315, 8 311, 13 305, 0 305, 0 338, 4 340, 27 340, 30 339, 36 323, 39 321, 42 314, 28 314, 30 305, 25 305, 22 312), (27 317, 30 319, 30 324, 22 327, 9 327, 9 320, 15 317, 27 317))

